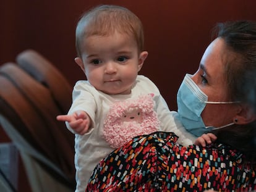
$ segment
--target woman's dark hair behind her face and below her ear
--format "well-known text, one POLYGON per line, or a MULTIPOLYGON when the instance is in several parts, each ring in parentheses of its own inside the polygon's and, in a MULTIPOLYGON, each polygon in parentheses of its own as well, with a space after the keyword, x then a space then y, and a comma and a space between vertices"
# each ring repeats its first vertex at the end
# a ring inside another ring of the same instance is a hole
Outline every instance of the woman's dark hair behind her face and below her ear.
MULTIPOLYGON (((215 32, 231 53, 224 66, 229 98, 256 111, 256 22, 218 23, 215 32)), ((243 151, 256 160, 256 122, 213 131, 221 143, 243 151)))

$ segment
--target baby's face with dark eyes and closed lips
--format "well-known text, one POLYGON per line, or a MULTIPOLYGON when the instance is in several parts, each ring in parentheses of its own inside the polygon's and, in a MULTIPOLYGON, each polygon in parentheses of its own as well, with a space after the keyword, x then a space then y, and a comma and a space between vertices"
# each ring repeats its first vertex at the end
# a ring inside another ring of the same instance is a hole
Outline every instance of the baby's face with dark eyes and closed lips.
POLYGON ((144 61, 134 38, 116 32, 89 36, 83 44, 82 62, 90 84, 107 94, 129 94, 144 61))

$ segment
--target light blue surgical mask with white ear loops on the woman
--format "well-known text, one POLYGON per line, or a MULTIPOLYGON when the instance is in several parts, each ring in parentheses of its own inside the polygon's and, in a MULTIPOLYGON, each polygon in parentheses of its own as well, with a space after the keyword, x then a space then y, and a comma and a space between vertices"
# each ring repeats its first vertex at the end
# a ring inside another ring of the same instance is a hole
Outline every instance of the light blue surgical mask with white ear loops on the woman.
POLYGON ((201 136, 203 133, 207 133, 213 129, 220 129, 233 125, 223 125, 221 127, 205 126, 201 117, 203 109, 206 104, 231 104, 234 102, 215 102, 208 101, 208 96, 203 93, 202 90, 192 80, 192 75, 186 74, 184 80, 179 87, 177 93, 177 107, 179 120, 184 125, 187 131, 194 134, 195 136, 201 136))

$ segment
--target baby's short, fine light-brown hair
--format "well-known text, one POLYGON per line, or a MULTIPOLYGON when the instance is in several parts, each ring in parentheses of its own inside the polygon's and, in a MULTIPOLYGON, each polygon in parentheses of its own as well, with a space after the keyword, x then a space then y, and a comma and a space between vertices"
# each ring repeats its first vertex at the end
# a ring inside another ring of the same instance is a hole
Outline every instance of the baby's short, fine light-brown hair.
POLYGON ((133 36, 138 51, 143 51, 144 35, 140 19, 129 9, 114 5, 101 5, 88 10, 77 23, 75 47, 79 57, 82 55, 83 40, 88 36, 108 36, 115 31, 133 36))

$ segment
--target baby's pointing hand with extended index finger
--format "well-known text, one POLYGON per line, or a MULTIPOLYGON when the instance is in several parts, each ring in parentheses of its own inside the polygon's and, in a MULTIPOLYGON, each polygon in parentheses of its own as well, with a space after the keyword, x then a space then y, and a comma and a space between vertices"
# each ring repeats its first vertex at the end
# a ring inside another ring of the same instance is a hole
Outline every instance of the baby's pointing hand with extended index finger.
POLYGON ((69 126, 79 135, 87 133, 91 119, 85 111, 76 111, 70 115, 58 115, 57 120, 66 121, 69 126))

